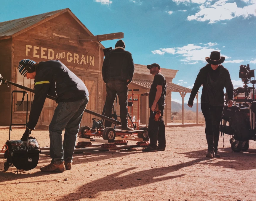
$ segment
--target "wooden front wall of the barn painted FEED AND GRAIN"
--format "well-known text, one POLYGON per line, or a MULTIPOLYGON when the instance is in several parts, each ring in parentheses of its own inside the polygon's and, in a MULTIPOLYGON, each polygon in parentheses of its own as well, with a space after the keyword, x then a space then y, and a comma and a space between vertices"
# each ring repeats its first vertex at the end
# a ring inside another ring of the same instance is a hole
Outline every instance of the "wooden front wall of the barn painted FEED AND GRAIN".
MULTIPOLYGON (((97 42, 81 43, 79 39, 85 36, 89 36, 89 33, 68 12, 17 35, 13 38, 13 81, 17 82, 17 66, 22 59, 36 62, 60 60, 87 86, 90 93, 87 108, 101 113, 103 51, 97 42)), ((52 100, 45 101, 37 126, 49 125, 56 105, 52 100)), ((25 112, 16 109, 13 112, 16 122, 25 121, 25 112)), ((92 116, 84 114, 81 125, 91 124, 92 116)))

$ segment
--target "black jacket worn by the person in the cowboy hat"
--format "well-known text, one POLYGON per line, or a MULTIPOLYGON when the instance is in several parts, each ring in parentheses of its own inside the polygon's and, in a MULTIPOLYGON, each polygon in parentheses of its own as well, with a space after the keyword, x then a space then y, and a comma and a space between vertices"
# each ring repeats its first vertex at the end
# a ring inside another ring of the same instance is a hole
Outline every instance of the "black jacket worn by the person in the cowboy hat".
POLYGON ((201 85, 203 85, 201 103, 209 103, 211 106, 224 105, 224 87, 226 88, 228 99, 234 98, 234 87, 231 82, 228 69, 220 65, 219 76, 215 82, 211 81, 209 73, 212 70, 211 64, 207 64, 199 71, 193 89, 191 91, 188 105, 193 105, 194 98, 201 85))

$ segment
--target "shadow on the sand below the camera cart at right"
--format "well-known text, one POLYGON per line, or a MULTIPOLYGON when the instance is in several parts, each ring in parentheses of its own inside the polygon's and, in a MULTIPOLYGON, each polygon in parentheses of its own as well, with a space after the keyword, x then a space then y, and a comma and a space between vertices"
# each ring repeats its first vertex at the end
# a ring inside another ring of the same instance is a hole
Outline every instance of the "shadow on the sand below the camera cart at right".
MULTIPOLYGON (((248 149, 246 152, 235 153, 231 150, 231 147, 219 148, 218 152, 221 158, 212 158, 214 163, 206 161, 201 162, 200 164, 207 164, 211 166, 219 166, 223 168, 232 168, 235 170, 252 170, 256 169, 256 150, 248 149)), ((177 152, 175 152, 177 153, 177 152)), ((197 150, 191 152, 177 153, 185 155, 188 158, 202 158, 205 157, 207 149, 197 150)), ((208 158, 209 159, 209 158, 208 158)))

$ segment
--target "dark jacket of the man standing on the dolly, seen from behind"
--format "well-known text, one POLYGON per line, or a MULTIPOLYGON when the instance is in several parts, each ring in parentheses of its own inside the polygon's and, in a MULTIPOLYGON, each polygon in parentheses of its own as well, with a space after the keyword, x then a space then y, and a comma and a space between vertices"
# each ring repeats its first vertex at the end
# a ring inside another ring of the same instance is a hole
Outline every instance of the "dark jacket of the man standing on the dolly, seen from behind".
POLYGON ((109 53, 102 66, 103 81, 107 83, 109 80, 130 80, 132 81, 134 73, 134 63, 132 54, 122 48, 116 48, 109 53))

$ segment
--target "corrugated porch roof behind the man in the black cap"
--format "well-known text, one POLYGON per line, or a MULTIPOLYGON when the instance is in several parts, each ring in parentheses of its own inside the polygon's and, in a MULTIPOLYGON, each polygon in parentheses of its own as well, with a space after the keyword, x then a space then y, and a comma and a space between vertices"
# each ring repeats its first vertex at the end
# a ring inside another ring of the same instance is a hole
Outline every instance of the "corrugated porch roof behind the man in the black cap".
MULTIPOLYGON (((142 79, 133 78, 132 79, 132 83, 150 89, 152 81, 151 80, 142 80, 142 79)), ((172 92, 191 93, 191 89, 186 88, 186 87, 182 87, 180 85, 176 85, 176 84, 174 84, 172 82, 167 82, 166 85, 167 85, 167 90, 170 90, 172 92)))

